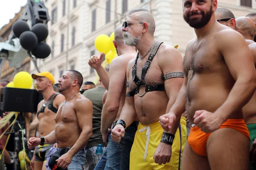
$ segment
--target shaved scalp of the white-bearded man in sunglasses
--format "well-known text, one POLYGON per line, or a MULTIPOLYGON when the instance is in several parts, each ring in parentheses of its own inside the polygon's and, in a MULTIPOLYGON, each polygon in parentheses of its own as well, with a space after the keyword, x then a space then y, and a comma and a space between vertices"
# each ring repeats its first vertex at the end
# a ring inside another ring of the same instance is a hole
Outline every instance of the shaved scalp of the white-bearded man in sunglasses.
POLYGON ((147 8, 132 9, 131 11, 128 12, 125 18, 129 19, 130 17, 133 18, 134 22, 147 23, 149 34, 154 35, 156 24, 155 24, 153 15, 150 13, 150 11, 147 8))

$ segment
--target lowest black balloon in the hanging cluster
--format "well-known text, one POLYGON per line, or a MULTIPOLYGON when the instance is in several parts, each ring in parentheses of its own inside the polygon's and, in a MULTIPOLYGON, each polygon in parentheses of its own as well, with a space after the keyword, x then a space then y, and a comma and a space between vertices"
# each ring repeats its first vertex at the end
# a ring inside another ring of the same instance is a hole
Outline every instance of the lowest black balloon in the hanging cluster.
POLYGON ((32 50, 32 54, 37 58, 44 59, 51 54, 51 48, 47 43, 41 42, 32 50))

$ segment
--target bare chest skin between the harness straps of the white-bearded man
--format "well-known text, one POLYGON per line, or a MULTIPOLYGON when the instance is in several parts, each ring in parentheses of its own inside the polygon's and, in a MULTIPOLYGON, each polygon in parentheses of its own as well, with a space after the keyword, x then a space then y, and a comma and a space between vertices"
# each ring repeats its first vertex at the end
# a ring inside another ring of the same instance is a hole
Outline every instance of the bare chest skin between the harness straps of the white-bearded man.
MULTIPOLYGON (((136 69, 136 76, 138 77, 138 79, 140 80, 140 82, 142 82, 143 79, 143 73, 145 73, 145 71, 143 71, 143 66, 145 64, 147 59, 138 59, 137 60, 137 69, 136 69)), ((135 84, 135 82, 133 82, 133 77, 132 77, 132 70, 130 71, 129 74, 129 85, 130 85, 130 90, 134 90, 137 85, 135 84)), ((163 72, 160 69, 158 63, 157 63, 157 56, 154 57, 154 59, 151 62, 151 65, 148 67, 146 74, 145 74, 145 84, 146 85, 159 85, 159 84, 163 84, 163 80, 162 80, 162 75, 163 72)))

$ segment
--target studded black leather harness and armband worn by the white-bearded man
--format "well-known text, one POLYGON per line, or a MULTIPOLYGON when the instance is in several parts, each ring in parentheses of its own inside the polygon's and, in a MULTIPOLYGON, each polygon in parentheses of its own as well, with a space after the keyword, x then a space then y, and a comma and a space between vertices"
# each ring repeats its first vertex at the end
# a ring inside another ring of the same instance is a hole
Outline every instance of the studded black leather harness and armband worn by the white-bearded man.
MULTIPOLYGON (((140 81, 140 79, 137 77, 137 60, 139 58, 139 53, 137 53, 137 57, 134 61, 134 65, 133 65, 132 71, 131 71, 132 81, 136 84, 137 87, 134 89, 134 91, 129 91, 126 94, 127 97, 134 96, 135 94, 138 94, 140 97, 142 97, 148 91, 165 91, 164 84, 161 84, 161 85, 147 85, 145 83, 145 76, 147 74, 148 68, 150 67, 151 62, 154 59, 154 57, 157 53, 157 50, 159 49, 159 47, 162 43, 163 42, 161 42, 161 41, 157 41, 154 44, 154 47, 153 47, 151 53, 149 54, 148 60, 145 62, 145 64, 143 65, 143 68, 142 68, 142 72, 141 72, 142 81, 140 81), (145 93, 143 95, 139 94, 139 88, 140 88, 141 85, 145 85, 145 93)), ((170 79, 170 78, 174 78, 174 77, 183 77, 184 78, 184 73, 180 72, 180 71, 175 71, 175 72, 170 72, 170 73, 167 73, 167 74, 163 74, 162 75, 162 80, 165 81, 166 79, 170 79)), ((129 83, 127 82, 127 88, 128 87, 129 87, 129 83)))

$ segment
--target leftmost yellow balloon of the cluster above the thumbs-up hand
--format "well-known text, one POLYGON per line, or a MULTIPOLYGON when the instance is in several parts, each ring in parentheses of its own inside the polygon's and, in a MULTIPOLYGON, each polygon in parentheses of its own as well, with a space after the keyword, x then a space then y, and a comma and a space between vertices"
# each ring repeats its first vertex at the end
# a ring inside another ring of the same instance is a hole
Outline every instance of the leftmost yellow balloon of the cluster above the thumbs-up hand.
POLYGON ((96 37, 94 45, 96 49, 104 54, 107 54, 110 50, 110 38, 105 34, 100 34, 96 37))

